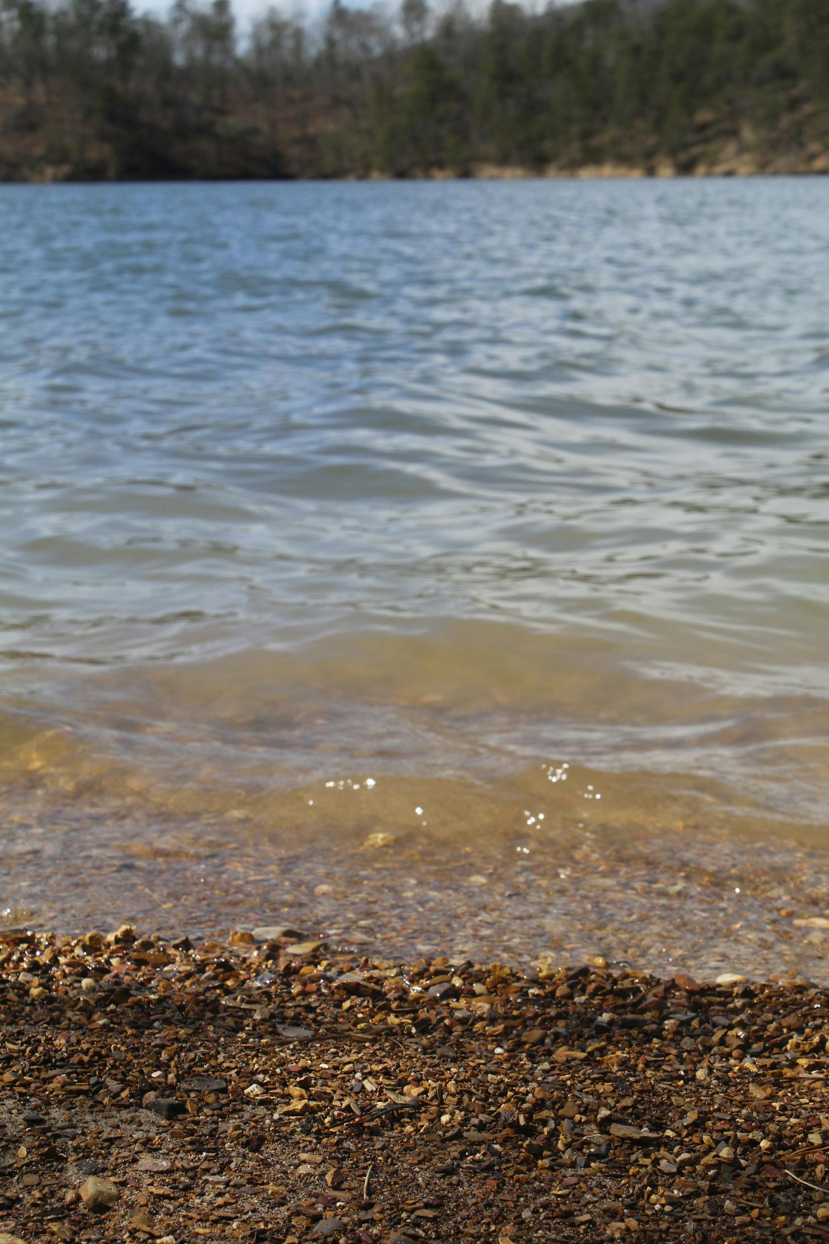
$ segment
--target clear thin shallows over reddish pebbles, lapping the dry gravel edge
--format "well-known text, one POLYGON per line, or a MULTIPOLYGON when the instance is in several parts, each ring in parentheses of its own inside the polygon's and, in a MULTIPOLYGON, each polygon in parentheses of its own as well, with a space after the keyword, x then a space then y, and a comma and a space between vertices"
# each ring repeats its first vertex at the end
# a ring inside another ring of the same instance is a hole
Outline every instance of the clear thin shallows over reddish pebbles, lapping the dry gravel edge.
MULTIPOLYGON (((573 784, 582 776, 573 771, 573 784)), ((398 791, 406 806, 416 789, 398 791)), ((363 791, 343 781, 321 794, 342 809, 363 791)), ((138 814, 112 800, 67 811, 32 790, 6 791, 0 928, 82 933, 127 917, 209 937, 287 922, 401 958, 598 955, 657 975, 829 982, 829 862, 784 826, 763 838, 756 826, 737 836, 705 820, 635 815, 548 832, 505 827, 495 807, 481 832, 461 801, 455 832, 439 825, 426 836, 372 815, 311 827, 292 815, 306 795, 268 832, 240 816, 138 814)))

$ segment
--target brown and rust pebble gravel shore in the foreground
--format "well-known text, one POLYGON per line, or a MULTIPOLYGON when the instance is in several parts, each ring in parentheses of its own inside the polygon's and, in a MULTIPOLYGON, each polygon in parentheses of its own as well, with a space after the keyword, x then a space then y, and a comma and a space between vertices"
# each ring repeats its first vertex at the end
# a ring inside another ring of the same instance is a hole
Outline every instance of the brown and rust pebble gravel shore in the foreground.
POLYGON ((0 1244, 829 1238, 828 1003, 6 931, 0 1244))

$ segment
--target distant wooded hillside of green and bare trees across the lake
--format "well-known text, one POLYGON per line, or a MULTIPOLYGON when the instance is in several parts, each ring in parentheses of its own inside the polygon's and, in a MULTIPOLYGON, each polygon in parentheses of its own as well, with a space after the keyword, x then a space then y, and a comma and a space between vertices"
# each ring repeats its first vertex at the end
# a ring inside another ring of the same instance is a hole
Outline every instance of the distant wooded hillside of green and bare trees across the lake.
POLYGON ((829 170, 829 0, 0 0, 0 178, 829 170))

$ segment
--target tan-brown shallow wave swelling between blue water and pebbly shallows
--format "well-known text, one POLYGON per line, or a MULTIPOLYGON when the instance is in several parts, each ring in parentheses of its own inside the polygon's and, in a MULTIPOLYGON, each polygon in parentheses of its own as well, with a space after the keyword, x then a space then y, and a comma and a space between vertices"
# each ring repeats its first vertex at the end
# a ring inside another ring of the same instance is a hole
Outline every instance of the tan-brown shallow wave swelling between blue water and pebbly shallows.
POLYGON ((70 667, 7 697, 0 774, 15 787, 220 814, 288 837, 369 822, 420 833, 418 804, 430 809, 424 837, 498 835, 517 805, 543 796, 546 831, 600 811, 624 835, 629 812, 659 827, 681 804, 671 816, 713 816, 733 832, 783 822, 822 841, 829 700, 771 685, 752 694, 738 671, 710 671, 706 685, 676 661, 660 669, 649 651, 464 622, 70 667), (602 775, 600 809, 574 810, 573 782, 551 785, 548 765, 562 761, 602 775), (367 776, 383 781, 367 789, 367 776), (360 797, 332 794, 343 789, 360 797))

